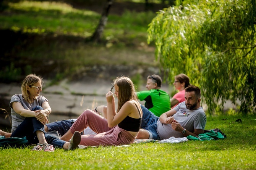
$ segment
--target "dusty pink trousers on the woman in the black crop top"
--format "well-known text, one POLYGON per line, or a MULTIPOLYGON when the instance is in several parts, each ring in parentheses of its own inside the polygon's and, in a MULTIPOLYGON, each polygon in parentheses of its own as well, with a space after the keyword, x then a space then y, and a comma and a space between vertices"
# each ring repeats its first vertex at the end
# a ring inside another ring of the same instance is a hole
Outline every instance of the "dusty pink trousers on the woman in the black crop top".
POLYGON ((98 133, 97 135, 82 135, 80 144, 85 146, 110 146, 131 144, 135 137, 126 130, 116 125, 109 128, 107 119, 101 115, 91 111, 85 110, 70 128, 71 133, 75 131, 82 132, 85 128, 90 127, 91 130, 98 133))

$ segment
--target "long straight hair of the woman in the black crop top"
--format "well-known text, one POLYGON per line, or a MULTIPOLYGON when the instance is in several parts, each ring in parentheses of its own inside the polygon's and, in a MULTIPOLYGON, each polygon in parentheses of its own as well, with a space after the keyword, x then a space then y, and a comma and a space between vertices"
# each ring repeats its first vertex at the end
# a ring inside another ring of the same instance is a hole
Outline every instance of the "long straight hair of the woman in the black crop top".
POLYGON ((130 78, 125 76, 117 77, 116 79, 114 79, 114 85, 118 86, 117 112, 121 109, 121 107, 123 106, 123 104, 125 104, 126 101, 137 101, 137 98, 135 96, 135 88, 130 78))

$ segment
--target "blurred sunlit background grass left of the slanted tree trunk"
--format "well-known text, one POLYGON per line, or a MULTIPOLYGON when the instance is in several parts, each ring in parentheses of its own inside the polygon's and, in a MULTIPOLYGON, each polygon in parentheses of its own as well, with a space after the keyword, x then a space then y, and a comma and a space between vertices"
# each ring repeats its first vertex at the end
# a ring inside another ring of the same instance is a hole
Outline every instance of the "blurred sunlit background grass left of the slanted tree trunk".
POLYGON ((0 15, 0 28, 24 33, 49 33, 89 37, 97 26, 100 15, 78 10, 66 3, 29 2, 8 3, 0 15), (7 15, 7 16, 6 16, 7 15))

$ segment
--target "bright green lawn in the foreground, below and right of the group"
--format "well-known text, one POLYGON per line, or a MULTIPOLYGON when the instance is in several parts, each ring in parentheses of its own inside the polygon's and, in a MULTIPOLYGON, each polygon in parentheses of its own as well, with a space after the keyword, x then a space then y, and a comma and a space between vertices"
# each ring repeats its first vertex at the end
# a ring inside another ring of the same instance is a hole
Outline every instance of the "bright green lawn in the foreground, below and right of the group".
POLYGON ((178 144, 141 143, 53 153, 0 149, 0 169, 247 169, 256 167, 255 116, 208 117, 206 129, 220 128, 227 138, 178 144), (227 120, 222 120, 228 118, 227 120), (241 119, 242 123, 232 123, 241 119))

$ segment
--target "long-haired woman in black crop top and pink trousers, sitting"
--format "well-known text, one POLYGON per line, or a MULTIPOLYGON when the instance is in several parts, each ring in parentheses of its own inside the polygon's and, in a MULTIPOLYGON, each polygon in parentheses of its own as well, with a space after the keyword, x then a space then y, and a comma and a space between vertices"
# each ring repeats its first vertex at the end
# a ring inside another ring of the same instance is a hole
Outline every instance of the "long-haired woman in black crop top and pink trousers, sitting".
POLYGON ((82 135, 82 145, 110 146, 133 143, 138 135, 142 117, 133 82, 128 77, 117 77, 114 80, 114 87, 114 94, 118 98, 117 112, 114 95, 112 91, 108 91, 107 119, 94 111, 86 110, 61 139, 68 141, 75 131, 82 132, 89 126, 97 134, 82 135))

